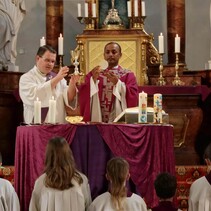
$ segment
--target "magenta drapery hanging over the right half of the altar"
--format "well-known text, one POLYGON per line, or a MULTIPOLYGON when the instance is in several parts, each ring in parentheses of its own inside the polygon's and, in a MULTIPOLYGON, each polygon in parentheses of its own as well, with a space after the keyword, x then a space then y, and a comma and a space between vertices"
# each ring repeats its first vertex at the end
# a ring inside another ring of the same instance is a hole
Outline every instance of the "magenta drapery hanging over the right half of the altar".
POLYGON ((159 172, 175 174, 173 132, 169 125, 98 125, 116 156, 130 164, 131 179, 146 203, 158 203, 153 181, 159 172))

